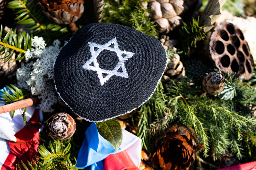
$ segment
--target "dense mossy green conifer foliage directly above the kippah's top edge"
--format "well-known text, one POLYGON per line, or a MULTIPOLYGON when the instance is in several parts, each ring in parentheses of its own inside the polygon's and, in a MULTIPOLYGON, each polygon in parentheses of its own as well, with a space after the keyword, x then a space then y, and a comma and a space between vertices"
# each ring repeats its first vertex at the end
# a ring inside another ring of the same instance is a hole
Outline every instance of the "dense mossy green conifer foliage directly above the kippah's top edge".
POLYGON ((150 9, 140 7, 142 2, 145 2, 145 0, 106 0, 104 1, 102 22, 132 27, 157 38, 156 24, 147 15, 150 9))

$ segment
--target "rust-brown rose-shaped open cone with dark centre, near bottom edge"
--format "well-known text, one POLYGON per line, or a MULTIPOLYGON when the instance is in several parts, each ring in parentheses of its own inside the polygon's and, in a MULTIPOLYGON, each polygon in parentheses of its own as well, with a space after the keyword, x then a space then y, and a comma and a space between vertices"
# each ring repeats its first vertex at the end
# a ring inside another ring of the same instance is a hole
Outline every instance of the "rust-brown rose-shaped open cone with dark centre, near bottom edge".
POLYGON ((181 124, 169 126, 165 134, 156 140, 157 151, 152 162, 163 169, 185 169, 195 161, 195 153, 203 147, 197 141, 193 129, 181 124))

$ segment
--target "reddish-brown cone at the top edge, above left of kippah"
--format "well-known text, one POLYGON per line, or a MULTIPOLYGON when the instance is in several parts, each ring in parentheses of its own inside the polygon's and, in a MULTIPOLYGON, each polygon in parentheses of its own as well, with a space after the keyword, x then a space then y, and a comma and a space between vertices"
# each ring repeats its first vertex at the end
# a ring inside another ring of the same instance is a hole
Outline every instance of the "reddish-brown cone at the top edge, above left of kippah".
POLYGON ((40 0, 44 14, 57 24, 77 21, 84 11, 83 0, 40 0))

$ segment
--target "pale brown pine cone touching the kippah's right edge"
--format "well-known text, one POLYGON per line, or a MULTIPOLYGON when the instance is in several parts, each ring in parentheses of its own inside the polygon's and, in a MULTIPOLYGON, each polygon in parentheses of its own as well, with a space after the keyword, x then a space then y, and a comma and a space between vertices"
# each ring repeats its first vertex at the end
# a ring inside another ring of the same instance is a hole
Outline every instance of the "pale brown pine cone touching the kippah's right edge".
POLYGON ((182 81, 186 72, 179 55, 174 54, 174 57, 168 58, 167 61, 168 64, 161 79, 162 83, 168 84, 170 79, 173 79, 175 82, 182 81))

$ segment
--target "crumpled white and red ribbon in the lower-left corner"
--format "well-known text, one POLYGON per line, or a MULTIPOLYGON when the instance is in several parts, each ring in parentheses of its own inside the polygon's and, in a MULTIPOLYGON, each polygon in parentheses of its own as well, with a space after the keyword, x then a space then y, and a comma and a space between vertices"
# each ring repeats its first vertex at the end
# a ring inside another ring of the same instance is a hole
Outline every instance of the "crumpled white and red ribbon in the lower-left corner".
MULTIPOLYGON (((0 95, 1 91, 3 89, 0 95)), ((0 106, 3 104, 0 103, 0 106)), ((21 115, 23 112, 24 108, 16 110, 13 118, 11 112, 0 114, 0 170, 15 169, 17 163, 23 169, 21 161, 27 164, 38 155, 40 127, 26 127, 21 115)), ((25 114, 30 123, 39 122, 42 118, 42 112, 36 106, 27 107, 25 114)))

